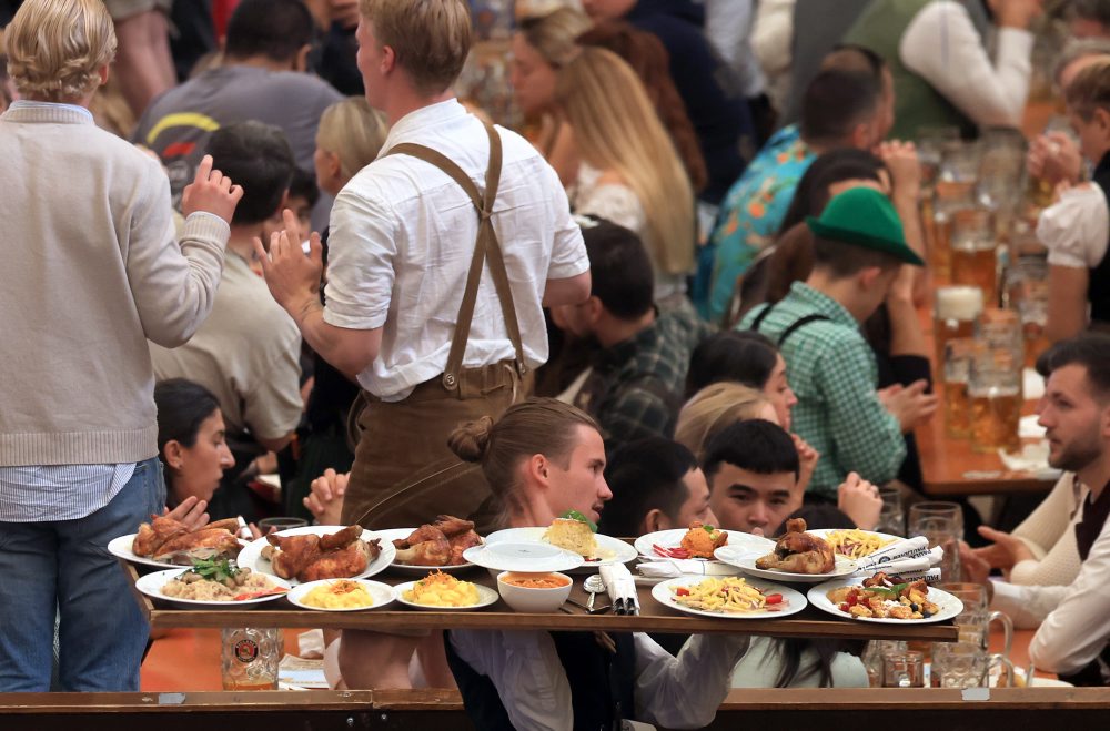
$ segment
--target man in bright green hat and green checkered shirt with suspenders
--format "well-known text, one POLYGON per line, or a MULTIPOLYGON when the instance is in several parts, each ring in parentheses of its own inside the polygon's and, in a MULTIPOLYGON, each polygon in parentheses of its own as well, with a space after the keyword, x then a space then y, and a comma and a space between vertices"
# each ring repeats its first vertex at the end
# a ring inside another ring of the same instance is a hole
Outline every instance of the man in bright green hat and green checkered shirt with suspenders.
POLYGON ((835 501, 849 471, 876 484, 894 479, 906 457, 902 432, 936 408, 924 380, 880 400, 875 355, 859 329, 899 266, 924 262, 890 201, 869 187, 841 193, 806 223, 816 237, 813 273, 781 302, 749 312, 741 327, 778 343, 798 397, 794 430, 821 455, 807 489, 835 501))

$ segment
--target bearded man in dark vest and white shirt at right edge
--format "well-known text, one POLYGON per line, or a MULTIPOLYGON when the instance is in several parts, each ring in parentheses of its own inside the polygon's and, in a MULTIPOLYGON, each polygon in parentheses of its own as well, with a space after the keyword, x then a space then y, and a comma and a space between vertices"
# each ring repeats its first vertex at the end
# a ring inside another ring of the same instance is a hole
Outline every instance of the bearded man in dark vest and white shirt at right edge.
MULTIPOLYGON (((1040 629, 1029 646, 1038 670, 1081 686, 1110 681, 1110 335, 1058 343, 1038 362, 1047 378, 1038 405, 1049 443, 1048 463, 1074 475, 1081 508, 1072 517, 1082 567, 1070 586, 987 582, 992 607, 1015 623, 1040 629)), ((989 567, 963 549, 972 580, 989 567)))

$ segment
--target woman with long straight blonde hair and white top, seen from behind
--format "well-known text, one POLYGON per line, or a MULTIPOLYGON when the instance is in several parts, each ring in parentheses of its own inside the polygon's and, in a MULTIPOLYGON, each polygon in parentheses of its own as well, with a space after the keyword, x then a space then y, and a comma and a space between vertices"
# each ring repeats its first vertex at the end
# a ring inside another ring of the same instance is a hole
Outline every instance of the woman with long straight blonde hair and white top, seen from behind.
POLYGON ((639 78, 612 51, 585 48, 559 72, 555 98, 582 161, 567 191, 575 212, 635 231, 652 257, 656 302, 682 306, 694 191, 639 78))

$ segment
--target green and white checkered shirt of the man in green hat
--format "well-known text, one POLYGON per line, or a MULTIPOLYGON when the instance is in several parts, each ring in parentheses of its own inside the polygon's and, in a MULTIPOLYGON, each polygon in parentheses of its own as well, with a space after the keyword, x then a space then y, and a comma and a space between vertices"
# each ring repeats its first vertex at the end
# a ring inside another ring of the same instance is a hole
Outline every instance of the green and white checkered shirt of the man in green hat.
MULTIPOLYGON (((751 327, 764 309, 749 312, 740 327, 751 327)), ((791 414, 794 430, 821 455, 808 489, 835 500, 837 486, 849 471, 876 485, 894 479, 906 458, 906 441, 898 419, 876 394, 875 354, 859 323, 838 302, 795 282, 759 332, 777 343, 786 328, 813 314, 828 321, 799 327, 780 349, 798 397, 791 414)))

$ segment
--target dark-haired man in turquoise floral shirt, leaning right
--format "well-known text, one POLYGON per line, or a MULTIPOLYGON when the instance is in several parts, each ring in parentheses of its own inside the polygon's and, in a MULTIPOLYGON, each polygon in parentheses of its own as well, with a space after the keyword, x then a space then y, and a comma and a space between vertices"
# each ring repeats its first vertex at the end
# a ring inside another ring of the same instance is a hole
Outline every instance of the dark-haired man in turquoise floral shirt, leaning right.
POLYGON ((894 114, 890 72, 870 51, 834 51, 801 105, 799 123, 767 141, 722 204, 709 238, 716 251, 705 303, 714 322, 728 308, 736 278, 778 234, 798 181, 814 160, 837 148, 870 150, 886 136, 894 114))

